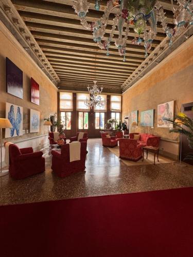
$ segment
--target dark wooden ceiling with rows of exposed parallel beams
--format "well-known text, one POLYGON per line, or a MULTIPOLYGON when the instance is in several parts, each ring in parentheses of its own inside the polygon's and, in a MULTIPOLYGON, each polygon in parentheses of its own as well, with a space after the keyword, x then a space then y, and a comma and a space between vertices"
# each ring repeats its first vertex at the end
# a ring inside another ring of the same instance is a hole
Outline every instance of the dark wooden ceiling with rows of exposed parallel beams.
MULTIPOLYGON (((79 86, 93 84, 103 85, 106 91, 120 92, 120 86, 132 74, 132 72, 145 60, 144 43, 133 45, 135 33, 130 28, 126 46, 126 62, 122 62, 114 41, 118 38, 115 31, 114 39, 110 47, 110 56, 101 50, 93 41, 90 30, 86 30, 80 24, 79 18, 72 8, 71 0, 11 0, 19 12, 33 38, 44 52, 50 65, 56 71, 61 83, 60 86, 74 89, 79 86)), ((94 9, 95 1, 91 0, 90 10, 87 13, 87 21, 91 22, 102 16, 107 1, 100 1, 100 11, 94 9)), ((173 16, 170 0, 160 1, 167 16, 167 22, 173 27, 173 16)), ((110 14, 105 39, 111 33, 114 13, 110 14)), ((125 33, 125 32, 124 32, 125 33)), ((157 25, 157 34, 153 41, 154 50, 166 34, 163 32, 160 21, 157 25)))

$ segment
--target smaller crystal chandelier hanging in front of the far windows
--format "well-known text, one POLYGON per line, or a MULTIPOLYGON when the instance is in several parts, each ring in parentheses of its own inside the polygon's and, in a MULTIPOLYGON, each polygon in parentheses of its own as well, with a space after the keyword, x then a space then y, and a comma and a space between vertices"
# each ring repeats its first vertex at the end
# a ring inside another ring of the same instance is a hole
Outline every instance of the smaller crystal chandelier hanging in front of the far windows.
POLYGON ((87 86, 87 89, 90 94, 90 100, 88 100, 86 97, 86 101, 84 101, 84 104, 91 108, 95 106, 103 107, 106 104, 106 101, 102 100, 100 96, 100 93, 102 92, 103 87, 99 89, 98 86, 96 85, 97 81, 94 80, 93 82, 94 82, 94 86, 92 87, 87 86))

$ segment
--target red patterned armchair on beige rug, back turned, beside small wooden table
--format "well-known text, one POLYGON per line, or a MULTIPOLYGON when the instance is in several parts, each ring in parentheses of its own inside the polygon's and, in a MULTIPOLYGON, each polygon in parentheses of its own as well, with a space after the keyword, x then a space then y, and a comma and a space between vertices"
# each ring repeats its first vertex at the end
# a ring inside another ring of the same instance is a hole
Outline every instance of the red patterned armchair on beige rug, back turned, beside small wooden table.
POLYGON ((121 159, 138 161, 143 157, 142 146, 135 139, 119 139, 119 157, 121 159))

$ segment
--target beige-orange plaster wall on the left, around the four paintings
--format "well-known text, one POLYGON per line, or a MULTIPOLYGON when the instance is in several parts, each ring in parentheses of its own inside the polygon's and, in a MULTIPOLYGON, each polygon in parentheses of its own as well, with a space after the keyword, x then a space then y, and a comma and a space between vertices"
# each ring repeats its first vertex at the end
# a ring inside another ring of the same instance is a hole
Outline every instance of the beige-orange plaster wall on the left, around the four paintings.
POLYGON ((43 126, 43 120, 57 112, 57 88, 2 24, 0 24, 0 39, 0 117, 5 118, 6 102, 23 106, 23 130, 26 132, 23 136, 8 138, 8 140, 22 141, 46 134, 47 127, 43 126), (23 71, 23 99, 6 93, 6 57, 23 71), (31 103, 31 77, 40 85, 40 105, 31 103), (27 134, 30 108, 40 111, 39 133, 27 134))

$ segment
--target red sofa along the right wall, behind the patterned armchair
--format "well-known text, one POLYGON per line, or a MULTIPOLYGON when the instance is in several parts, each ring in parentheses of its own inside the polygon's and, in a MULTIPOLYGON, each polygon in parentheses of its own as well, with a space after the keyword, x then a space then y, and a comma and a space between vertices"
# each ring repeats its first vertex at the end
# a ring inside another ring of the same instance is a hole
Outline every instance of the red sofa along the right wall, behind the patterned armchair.
POLYGON ((160 139, 161 137, 154 136, 152 134, 147 134, 147 133, 129 133, 129 138, 133 139, 135 135, 140 135, 139 140, 137 140, 137 143, 140 144, 141 146, 145 145, 151 145, 154 147, 159 147, 160 144, 160 139))

